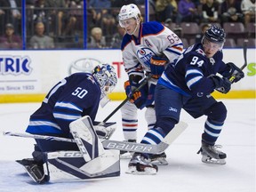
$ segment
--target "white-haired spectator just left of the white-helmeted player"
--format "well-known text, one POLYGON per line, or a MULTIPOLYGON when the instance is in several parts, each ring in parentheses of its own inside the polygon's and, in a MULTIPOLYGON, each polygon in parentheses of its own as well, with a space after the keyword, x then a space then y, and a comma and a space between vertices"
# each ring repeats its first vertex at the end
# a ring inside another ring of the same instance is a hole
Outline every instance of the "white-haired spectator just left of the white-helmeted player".
POLYGON ((87 41, 87 48, 102 49, 106 47, 106 37, 102 35, 102 29, 98 27, 92 28, 91 36, 87 41))

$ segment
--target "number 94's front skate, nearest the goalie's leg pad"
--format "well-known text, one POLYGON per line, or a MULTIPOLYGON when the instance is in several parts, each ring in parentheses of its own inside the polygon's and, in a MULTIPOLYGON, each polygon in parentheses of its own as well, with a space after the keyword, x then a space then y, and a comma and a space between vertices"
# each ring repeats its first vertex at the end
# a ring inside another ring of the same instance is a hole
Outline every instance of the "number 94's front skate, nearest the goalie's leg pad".
POLYGON ((139 174, 139 175, 154 175, 158 171, 156 164, 151 164, 151 160, 141 156, 140 154, 134 154, 130 163, 128 164, 128 170, 126 173, 139 174))

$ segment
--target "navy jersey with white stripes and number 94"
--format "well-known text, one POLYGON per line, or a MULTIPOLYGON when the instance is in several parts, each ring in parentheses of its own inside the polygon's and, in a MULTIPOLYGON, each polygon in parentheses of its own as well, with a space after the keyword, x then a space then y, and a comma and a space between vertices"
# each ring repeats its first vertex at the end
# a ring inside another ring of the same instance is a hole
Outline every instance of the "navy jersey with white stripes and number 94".
POLYGON ((188 47, 178 60, 168 65, 158 84, 163 84, 185 96, 208 95, 214 91, 215 86, 207 77, 217 73, 223 75, 227 71, 228 67, 222 58, 223 53, 219 51, 208 59, 203 51, 203 45, 194 44, 188 47))

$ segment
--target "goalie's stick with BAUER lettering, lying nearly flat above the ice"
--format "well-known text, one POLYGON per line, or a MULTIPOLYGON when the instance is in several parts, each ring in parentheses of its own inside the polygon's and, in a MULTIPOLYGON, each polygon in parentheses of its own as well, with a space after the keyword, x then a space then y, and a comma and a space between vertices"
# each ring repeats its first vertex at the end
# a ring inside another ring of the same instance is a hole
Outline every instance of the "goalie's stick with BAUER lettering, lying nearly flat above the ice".
MULTIPOLYGON (((183 132, 188 127, 188 124, 181 122, 176 124, 172 129, 172 132, 169 132, 164 140, 161 141, 157 145, 143 144, 143 143, 133 143, 133 142, 125 142, 118 140, 103 140, 102 145, 103 148, 107 149, 116 149, 116 150, 125 150, 139 153, 148 153, 148 154, 159 154, 164 152, 169 145, 172 144, 176 138, 180 136, 180 133, 183 132)), ((33 138, 36 140, 58 140, 58 141, 66 141, 66 142, 76 142, 73 139, 68 138, 60 138, 54 136, 47 135, 37 135, 37 134, 29 134, 29 133, 20 133, 20 132, 3 132, 5 136, 15 136, 15 137, 23 137, 23 138, 33 138)))

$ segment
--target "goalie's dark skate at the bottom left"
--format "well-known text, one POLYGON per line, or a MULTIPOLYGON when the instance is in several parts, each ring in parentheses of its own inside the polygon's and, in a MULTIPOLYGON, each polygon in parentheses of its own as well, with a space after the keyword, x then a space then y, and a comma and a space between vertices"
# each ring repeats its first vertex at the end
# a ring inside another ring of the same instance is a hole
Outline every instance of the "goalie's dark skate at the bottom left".
POLYGON ((23 165, 25 171, 36 183, 43 184, 49 180, 47 175, 44 175, 43 165, 36 164, 36 161, 31 158, 17 160, 17 163, 23 165))

